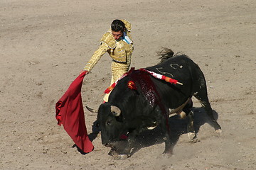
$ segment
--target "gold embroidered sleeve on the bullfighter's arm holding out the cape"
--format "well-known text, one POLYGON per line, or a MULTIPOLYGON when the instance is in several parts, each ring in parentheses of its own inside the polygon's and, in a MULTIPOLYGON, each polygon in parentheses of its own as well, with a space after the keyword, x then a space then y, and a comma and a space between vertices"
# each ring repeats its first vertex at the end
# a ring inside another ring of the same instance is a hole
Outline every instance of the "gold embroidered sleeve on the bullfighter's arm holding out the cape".
POLYGON ((97 62, 100 60, 102 55, 104 55, 105 52, 107 52, 108 49, 109 46, 105 42, 102 42, 100 47, 95 51, 95 53, 90 58, 89 62, 87 62, 83 70, 90 72, 92 68, 95 67, 95 64, 97 64, 97 62))

